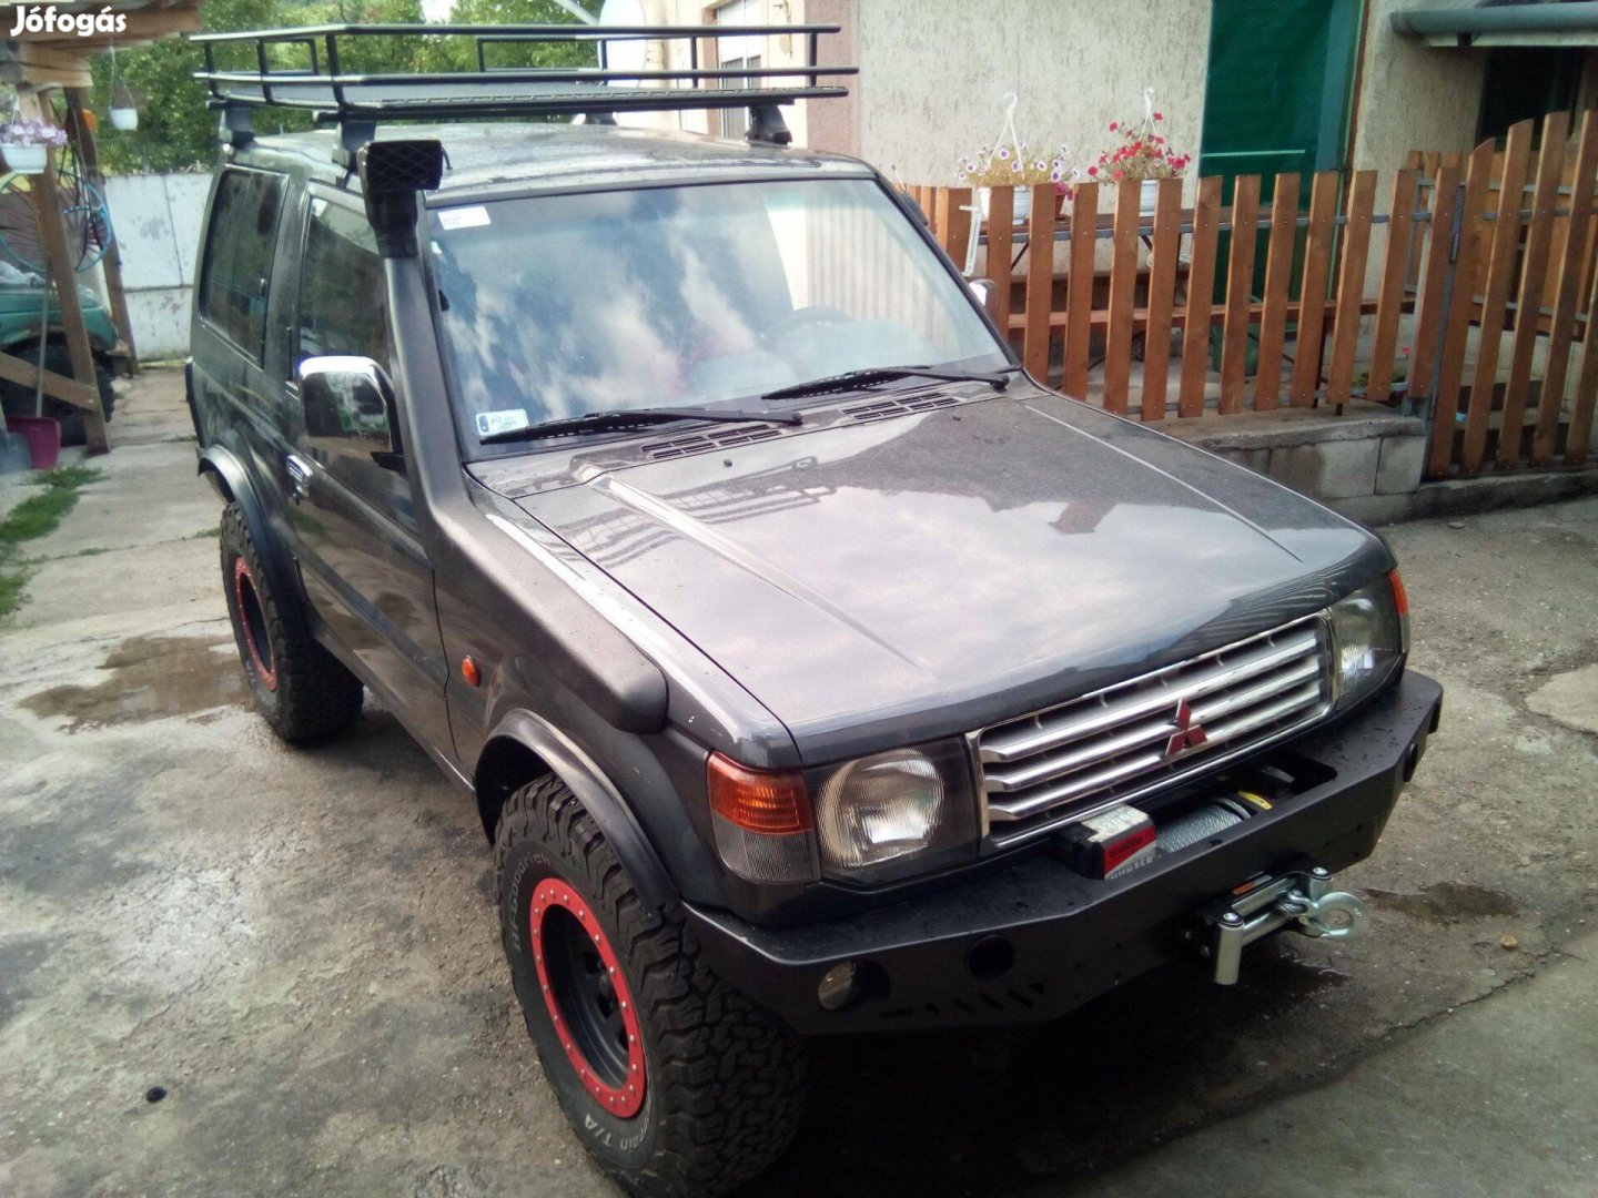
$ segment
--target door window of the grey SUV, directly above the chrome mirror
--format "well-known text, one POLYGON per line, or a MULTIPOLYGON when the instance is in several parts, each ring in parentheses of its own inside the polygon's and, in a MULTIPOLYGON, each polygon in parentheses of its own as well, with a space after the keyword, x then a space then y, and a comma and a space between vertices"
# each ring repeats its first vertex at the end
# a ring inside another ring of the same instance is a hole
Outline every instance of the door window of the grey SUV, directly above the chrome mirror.
POLYGON ((392 374, 384 262, 366 217, 312 200, 300 260, 296 366, 323 355, 371 358, 392 374))

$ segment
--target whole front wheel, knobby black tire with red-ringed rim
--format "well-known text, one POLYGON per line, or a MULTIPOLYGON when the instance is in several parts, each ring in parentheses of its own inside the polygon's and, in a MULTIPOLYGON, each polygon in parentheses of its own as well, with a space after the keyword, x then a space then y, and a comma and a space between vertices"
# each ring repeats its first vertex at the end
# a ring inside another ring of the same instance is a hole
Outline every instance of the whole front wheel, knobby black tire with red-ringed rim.
POLYGON ((505 802, 495 866, 527 1032, 601 1166, 631 1193, 678 1198, 775 1161, 804 1107, 802 1041, 710 971, 678 912, 646 914, 559 779, 505 802))

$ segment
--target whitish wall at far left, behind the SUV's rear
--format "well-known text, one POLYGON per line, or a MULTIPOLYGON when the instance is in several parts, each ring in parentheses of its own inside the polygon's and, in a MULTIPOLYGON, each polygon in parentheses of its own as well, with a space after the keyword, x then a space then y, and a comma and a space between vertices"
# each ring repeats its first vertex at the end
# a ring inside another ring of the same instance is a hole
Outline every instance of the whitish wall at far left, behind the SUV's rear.
POLYGON ((189 353, 189 303, 209 190, 209 174, 121 174, 105 180, 133 339, 144 361, 189 353))

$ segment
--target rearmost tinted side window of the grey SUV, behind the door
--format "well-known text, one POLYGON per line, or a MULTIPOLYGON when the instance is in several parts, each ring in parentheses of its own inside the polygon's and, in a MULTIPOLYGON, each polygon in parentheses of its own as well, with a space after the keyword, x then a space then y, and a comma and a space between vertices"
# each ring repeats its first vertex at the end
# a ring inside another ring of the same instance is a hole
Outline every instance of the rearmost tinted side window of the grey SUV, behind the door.
POLYGON ((254 361, 267 337, 267 281, 283 212, 283 176, 224 171, 211 206, 200 315, 254 361))

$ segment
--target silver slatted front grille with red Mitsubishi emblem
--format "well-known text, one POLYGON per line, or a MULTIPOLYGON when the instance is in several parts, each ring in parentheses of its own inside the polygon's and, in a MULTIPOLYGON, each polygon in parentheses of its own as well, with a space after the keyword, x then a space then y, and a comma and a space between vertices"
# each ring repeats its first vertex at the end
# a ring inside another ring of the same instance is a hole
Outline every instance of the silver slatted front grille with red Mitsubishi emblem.
POLYGON ((1008 845, 1219 765, 1312 724, 1331 698, 1315 615, 997 724, 976 736, 989 839, 1008 845))

